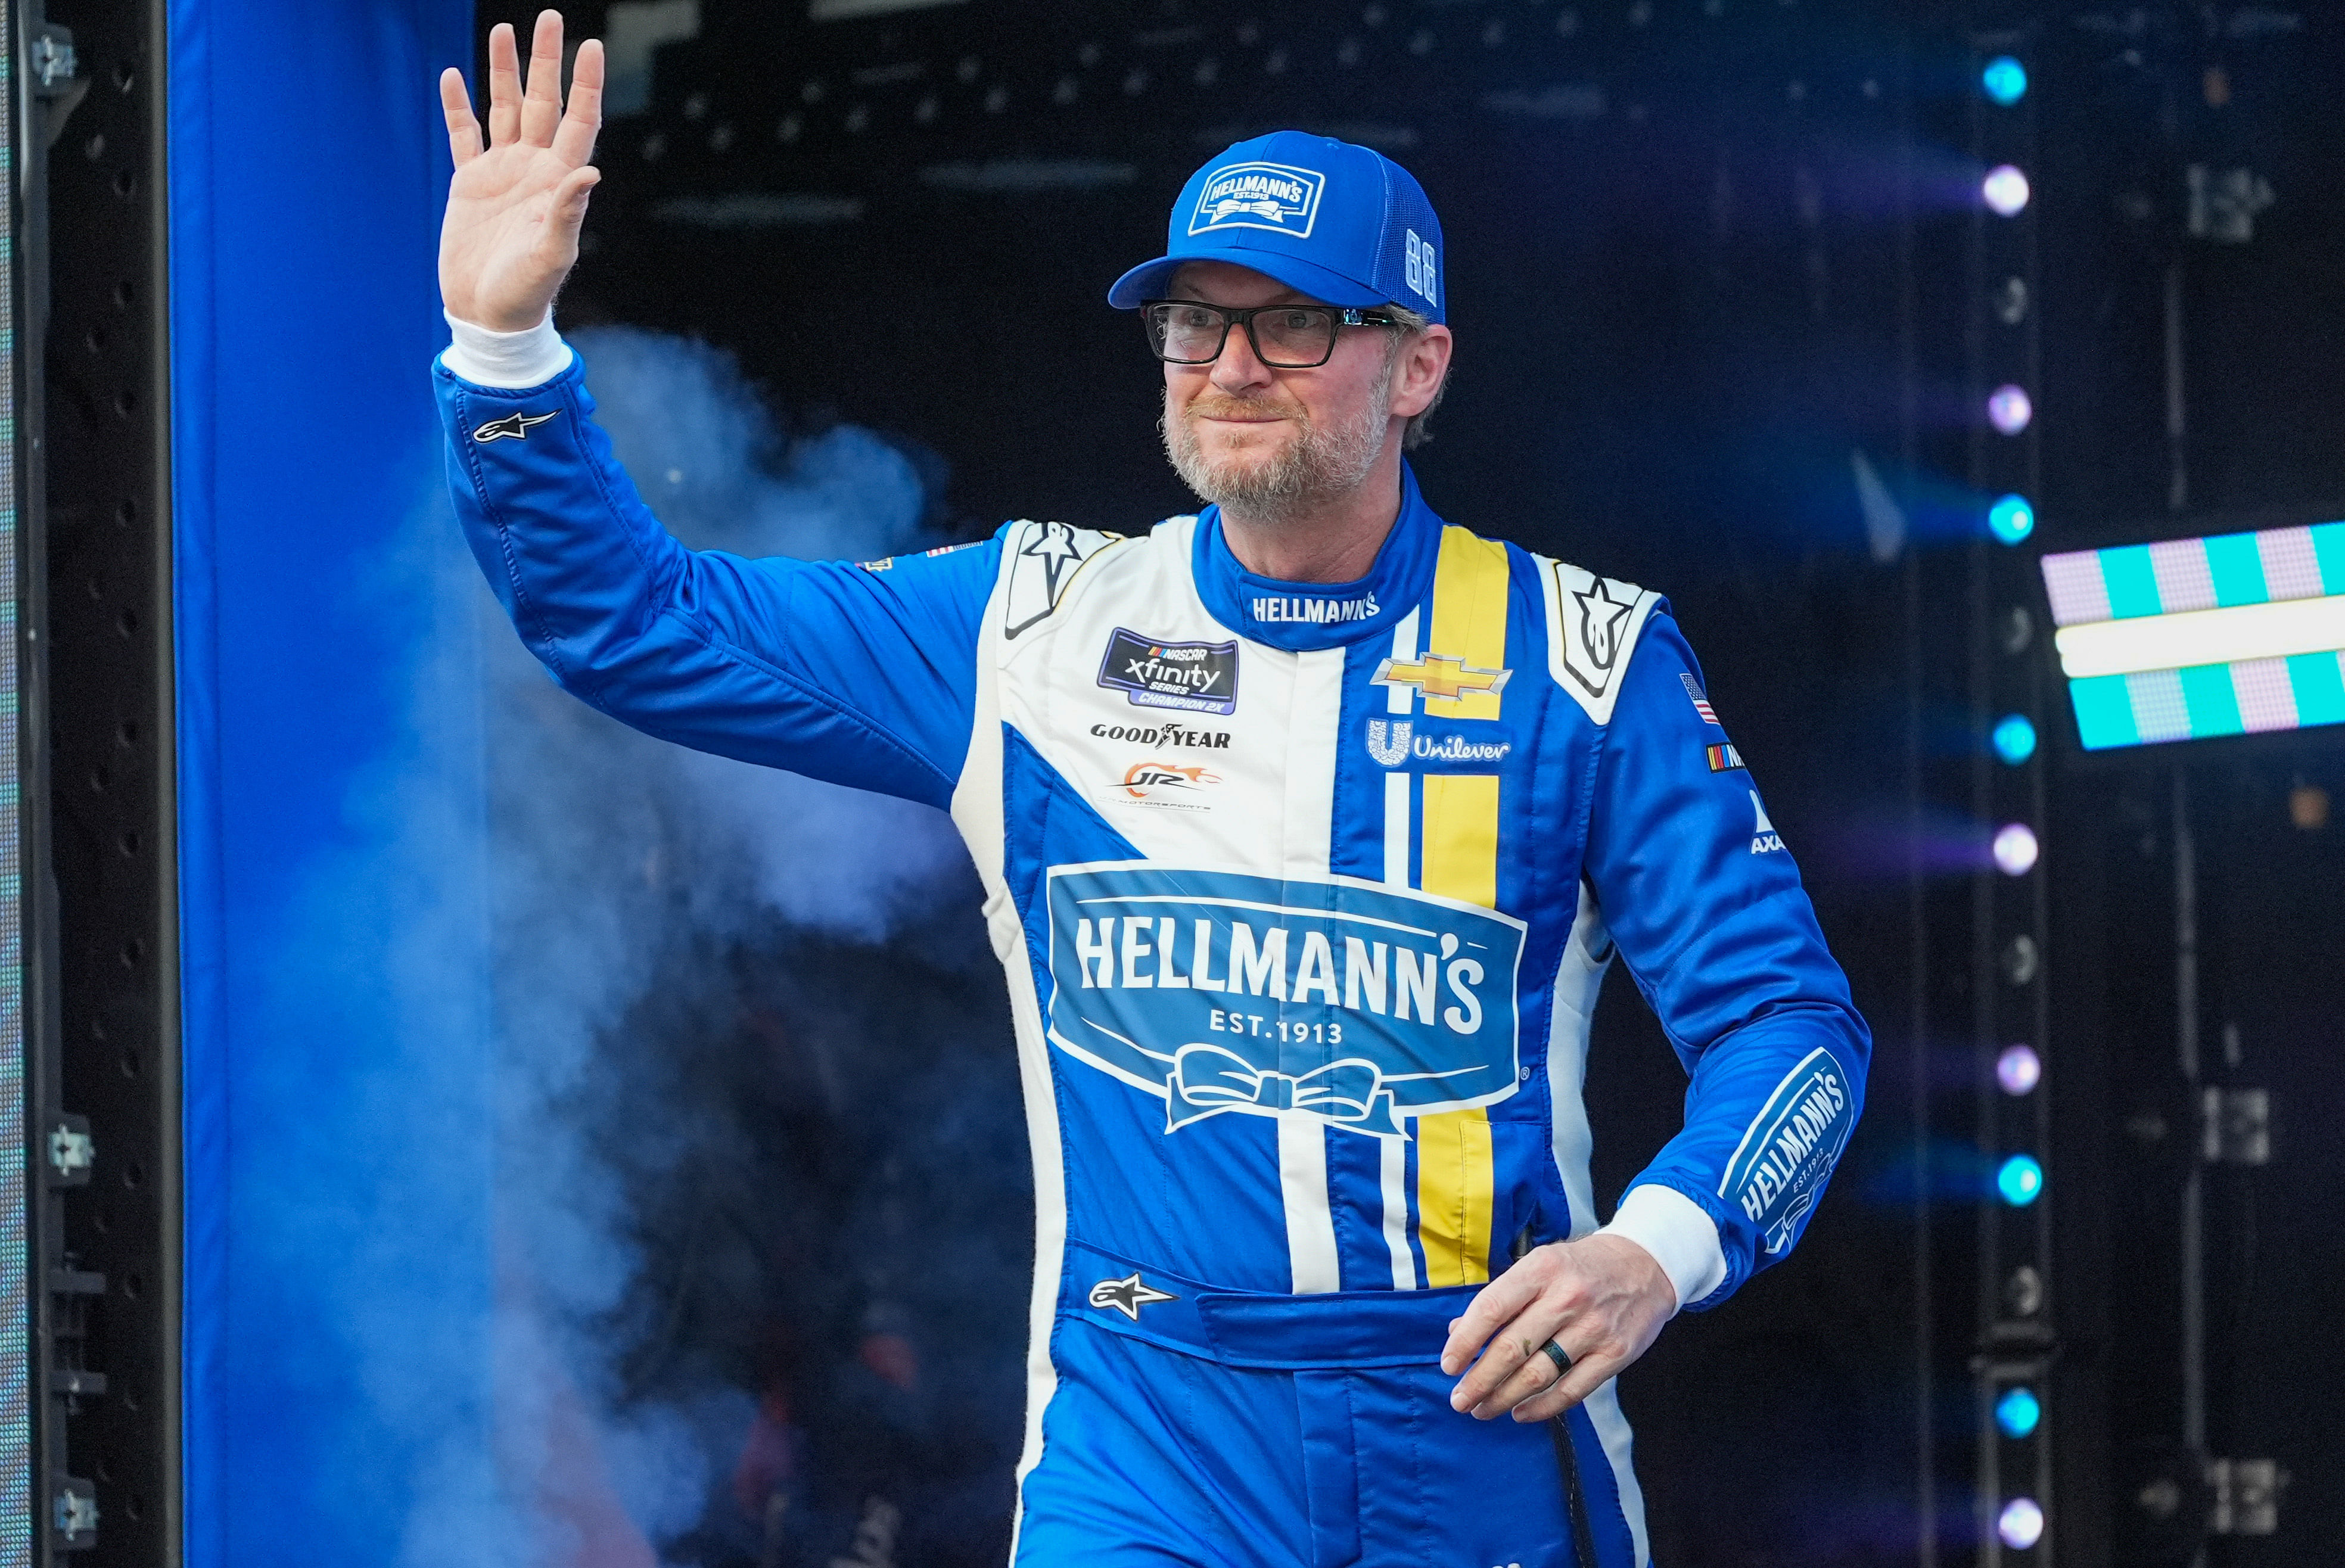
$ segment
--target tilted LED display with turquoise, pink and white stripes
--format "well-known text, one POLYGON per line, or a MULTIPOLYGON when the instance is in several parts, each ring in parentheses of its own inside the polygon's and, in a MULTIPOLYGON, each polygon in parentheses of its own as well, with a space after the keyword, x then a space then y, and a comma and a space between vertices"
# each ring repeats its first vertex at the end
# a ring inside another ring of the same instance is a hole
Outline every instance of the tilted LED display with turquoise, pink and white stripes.
POLYGON ((2042 558, 2087 750, 2345 724, 2345 523, 2042 558))

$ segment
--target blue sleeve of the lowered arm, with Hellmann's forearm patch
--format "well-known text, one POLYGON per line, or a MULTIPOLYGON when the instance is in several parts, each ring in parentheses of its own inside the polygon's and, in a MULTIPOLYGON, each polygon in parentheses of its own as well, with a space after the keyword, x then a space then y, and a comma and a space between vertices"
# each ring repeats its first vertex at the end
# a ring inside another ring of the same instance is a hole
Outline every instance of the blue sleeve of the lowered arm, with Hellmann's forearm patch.
POLYGON ((1588 881, 1691 1073, 1686 1127, 1639 1174, 1719 1230, 1714 1305, 1806 1228, 1864 1102, 1871 1031, 1700 668, 1656 609, 1597 759, 1588 881))

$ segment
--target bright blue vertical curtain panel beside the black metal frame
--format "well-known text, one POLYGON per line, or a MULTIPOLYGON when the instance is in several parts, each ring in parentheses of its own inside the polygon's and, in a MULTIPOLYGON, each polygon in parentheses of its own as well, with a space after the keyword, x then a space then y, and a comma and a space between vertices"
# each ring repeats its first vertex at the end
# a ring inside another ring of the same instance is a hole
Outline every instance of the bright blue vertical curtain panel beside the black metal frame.
POLYGON ((169 28, 188 1563, 495 1561, 478 682, 429 396, 471 5, 169 28))

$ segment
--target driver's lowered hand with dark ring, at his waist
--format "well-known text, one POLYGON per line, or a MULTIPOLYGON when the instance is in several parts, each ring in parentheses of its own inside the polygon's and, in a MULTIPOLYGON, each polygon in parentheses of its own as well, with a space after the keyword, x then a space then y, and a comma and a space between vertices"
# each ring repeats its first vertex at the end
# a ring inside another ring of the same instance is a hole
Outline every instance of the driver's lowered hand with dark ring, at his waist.
POLYGON ((1625 1235, 1534 1247, 1449 1324, 1442 1371, 1466 1373, 1449 1406, 1475 1420, 1562 1416, 1644 1355, 1674 1313, 1670 1275, 1625 1235), (1550 1338, 1571 1371, 1557 1371, 1550 1338))

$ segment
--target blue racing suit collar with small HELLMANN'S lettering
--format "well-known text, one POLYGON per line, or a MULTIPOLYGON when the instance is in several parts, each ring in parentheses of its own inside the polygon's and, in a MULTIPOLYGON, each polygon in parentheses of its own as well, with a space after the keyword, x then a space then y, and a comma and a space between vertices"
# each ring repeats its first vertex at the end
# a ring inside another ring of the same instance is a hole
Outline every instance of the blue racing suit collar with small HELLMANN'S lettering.
POLYGON ((1351 584, 1287 584, 1255 577, 1229 553, 1222 509, 1196 520, 1196 591, 1222 626, 1290 652, 1341 647, 1379 633, 1409 614, 1433 588, 1442 520, 1416 492, 1416 473, 1400 464, 1400 516, 1377 551, 1377 565, 1351 584))

